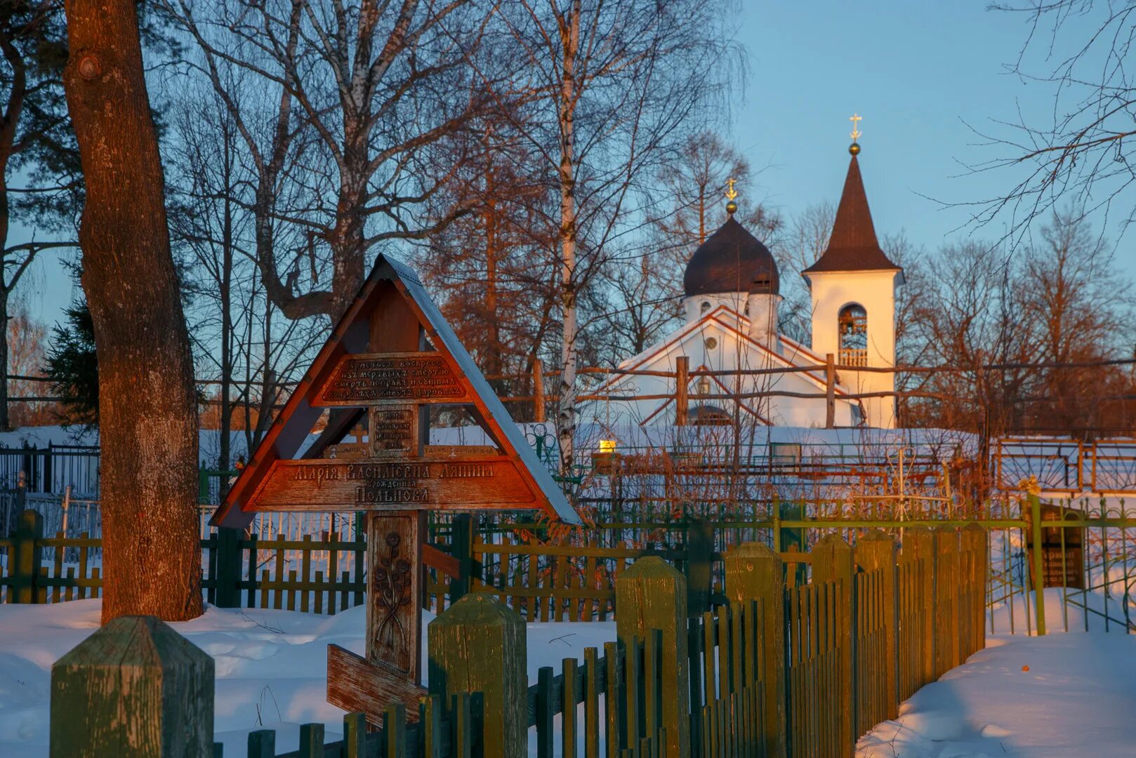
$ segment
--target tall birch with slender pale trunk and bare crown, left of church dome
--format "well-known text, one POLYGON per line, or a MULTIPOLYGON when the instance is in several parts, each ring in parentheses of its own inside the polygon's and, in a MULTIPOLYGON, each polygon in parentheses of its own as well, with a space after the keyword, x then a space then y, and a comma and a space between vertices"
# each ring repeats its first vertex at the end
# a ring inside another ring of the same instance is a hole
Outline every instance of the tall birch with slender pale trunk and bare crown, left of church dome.
MULTIPOLYGON (((571 472, 582 295, 609 245, 635 220, 636 190, 713 118, 728 56, 709 0, 518 0, 502 7, 507 43, 532 94, 515 126, 559 194, 560 469, 571 472), (696 119, 702 119, 695 124, 696 119)), ((738 61, 740 63, 740 61, 738 61)))

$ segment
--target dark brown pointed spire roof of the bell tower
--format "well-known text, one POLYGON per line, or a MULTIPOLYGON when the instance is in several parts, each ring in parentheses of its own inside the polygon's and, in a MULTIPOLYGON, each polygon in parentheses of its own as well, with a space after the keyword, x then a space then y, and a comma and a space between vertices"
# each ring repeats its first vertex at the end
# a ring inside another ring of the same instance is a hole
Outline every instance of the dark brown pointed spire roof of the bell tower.
POLYGON ((879 247, 871 210, 868 209, 868 195, 860 177, 860 163, 853 155, 828 248, 817 263, 801 273, 872 270, 903 269, 893 264, 879 247))

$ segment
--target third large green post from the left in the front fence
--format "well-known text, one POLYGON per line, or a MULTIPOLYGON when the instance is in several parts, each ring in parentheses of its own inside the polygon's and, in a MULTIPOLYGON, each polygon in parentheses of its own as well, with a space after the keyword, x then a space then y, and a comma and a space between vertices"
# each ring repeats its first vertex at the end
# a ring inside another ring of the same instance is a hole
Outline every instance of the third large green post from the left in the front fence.
POLYGON ((628 651, 632 638, 662 632, 662 681, 667 698, 667 757, 690 758, 690 659, 686 636, 686 577, 658 556, 640 558, 616 580, 616 635, 628 651))

